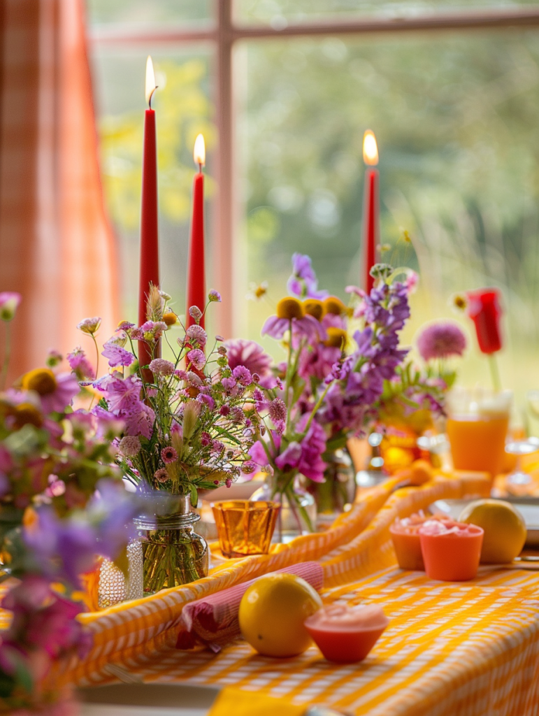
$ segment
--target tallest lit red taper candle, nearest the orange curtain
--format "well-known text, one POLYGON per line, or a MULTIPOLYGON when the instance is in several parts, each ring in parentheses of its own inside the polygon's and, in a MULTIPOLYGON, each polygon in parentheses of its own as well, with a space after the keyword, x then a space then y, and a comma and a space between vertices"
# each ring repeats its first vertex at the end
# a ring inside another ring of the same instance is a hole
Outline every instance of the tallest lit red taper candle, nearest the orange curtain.
MULTIPOLYGON (((142 153, 142 207, 140 213, 140 283, 138 299, 138 321, 146 321, 146 301, 150 284, 159 286, 159 234, 157 229, 157 142, 155 132, 155 111, 152 110, 152 95, 157 89, 152 58, 146 62, 146 102, 148 109, 144 117, 144 145, 142 153)), ((139 342, 139 364, 147 365, 152 356, 149 346, 139 342)), ((156 348, 156 354, 159 348, 156 348)))

